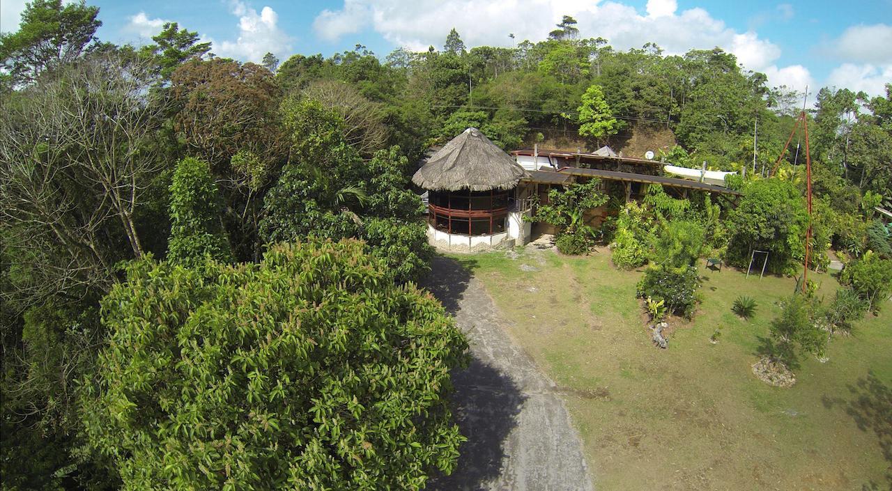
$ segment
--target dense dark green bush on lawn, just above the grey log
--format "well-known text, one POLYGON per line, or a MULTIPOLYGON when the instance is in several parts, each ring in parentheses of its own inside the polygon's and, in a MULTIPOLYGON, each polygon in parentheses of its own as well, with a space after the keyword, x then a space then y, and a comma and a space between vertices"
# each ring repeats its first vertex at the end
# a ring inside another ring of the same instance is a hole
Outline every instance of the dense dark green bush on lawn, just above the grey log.
POLYGON ((662 300, 668 312, 690 319, 697 307, 699 284, 696 267, 650 266, 638 282, 638 297, 662 300))

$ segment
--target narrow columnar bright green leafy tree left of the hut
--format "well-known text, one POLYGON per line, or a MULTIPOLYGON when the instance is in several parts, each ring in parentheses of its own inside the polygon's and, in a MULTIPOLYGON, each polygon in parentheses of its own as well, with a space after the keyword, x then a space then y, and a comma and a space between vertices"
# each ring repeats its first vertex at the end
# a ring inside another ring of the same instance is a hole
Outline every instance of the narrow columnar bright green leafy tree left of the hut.
POLYGON ((232 250, 220 222, 223 204, 208 163, 180 160, 170 184, 168 259, 186 266, 210 256, 232 261, 232 250))

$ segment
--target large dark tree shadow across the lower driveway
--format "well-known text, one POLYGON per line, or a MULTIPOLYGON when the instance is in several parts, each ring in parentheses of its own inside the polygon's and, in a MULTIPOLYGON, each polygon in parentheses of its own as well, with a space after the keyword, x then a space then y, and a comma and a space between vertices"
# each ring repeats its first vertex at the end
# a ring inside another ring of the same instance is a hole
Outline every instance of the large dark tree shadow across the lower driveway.
POLYGON ((500 477, 505 442, 517 425, 526 397, 514 381, 482 360, 452 375, 454 413, 467 442, 458 449, 458 466, 449 476, 436 476, 426 489, 489 489, 500 477))

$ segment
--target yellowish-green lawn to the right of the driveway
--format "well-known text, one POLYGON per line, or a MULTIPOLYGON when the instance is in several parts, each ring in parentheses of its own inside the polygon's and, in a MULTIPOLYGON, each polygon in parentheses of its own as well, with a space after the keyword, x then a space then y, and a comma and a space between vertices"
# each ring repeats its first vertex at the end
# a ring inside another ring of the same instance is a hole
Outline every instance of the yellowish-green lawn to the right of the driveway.
MULTIPOLYGON (((562 389, 599 489, 892 489, 892 302, 832 340, 826 363, 801 360, 796 385, 778 389, 750 367, 792 279, 701 264, 704 301, 692 322, 670 322, 661 350, 635 299, 640 271, 615 270, 607 250, 455 258, 562 389), (739 295, 758 303, 749 321, 731 313, 739 295)), ((838 286, 810 278, 826 297, 838 286)))

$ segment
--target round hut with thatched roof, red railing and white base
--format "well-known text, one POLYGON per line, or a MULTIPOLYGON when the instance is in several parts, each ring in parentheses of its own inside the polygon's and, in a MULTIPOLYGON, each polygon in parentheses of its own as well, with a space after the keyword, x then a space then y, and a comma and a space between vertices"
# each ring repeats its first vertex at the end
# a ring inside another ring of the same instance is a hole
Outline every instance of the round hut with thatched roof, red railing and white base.
POLYGON ((524 176, 524 168, 476 128, 446 143, 412 176, 428 192, 431 245, 471 252, 524 244, 531 229, 523 218, 529 191, 517 187, 524 176))

